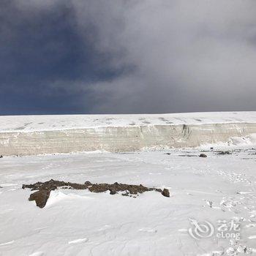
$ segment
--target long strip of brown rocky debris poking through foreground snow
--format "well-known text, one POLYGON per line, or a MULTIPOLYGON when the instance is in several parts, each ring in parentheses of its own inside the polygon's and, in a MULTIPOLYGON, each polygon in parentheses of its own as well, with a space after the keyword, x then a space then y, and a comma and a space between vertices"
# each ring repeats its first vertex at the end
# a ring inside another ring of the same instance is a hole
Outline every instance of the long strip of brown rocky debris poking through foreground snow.
POLYGON ((165 197, 170 197, 170 192, 168 189, 156 189, 151 187, 145 187, 143 185, 129 185, 121 184, 115 182, 114 184, 92 184, 90 181, 86 181, 84 184, 77 184, 64 181, 50 181, 37 182, 35 184, 26 185, 23 184, 23 189, 31 189, 31 191, 37 190, 30 195, 29 201, 35 200, 39 208, 45 207, 47 200, 50 196, 50 191, 58 188, 61 189, 89 189, 90 192, 100 193, 110 191, 110 195, 115 195, 117 192, 124 192, 121 195, 138 195, 138 193, 148 192, 148 191, 157 191, 160 192, 165 197))

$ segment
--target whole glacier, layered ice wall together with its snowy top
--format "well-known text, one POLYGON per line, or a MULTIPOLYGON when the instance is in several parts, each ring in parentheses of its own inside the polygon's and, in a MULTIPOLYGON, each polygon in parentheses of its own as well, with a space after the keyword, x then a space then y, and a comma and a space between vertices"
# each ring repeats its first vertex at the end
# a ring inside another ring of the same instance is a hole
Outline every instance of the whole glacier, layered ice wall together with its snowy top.
POLYGON ((1 116, 0 154, 195 147, 254 133, 256 112, 1 116))

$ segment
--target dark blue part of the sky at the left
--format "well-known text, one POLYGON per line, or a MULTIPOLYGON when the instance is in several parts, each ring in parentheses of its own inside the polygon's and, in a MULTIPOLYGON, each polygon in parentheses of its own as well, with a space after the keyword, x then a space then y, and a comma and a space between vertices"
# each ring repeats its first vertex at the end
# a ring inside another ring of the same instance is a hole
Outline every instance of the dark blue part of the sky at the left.
POLYGON ((90 112, 91 85, 120 69, 95 49, 94 23, 80 34, 69 1, 37 3, 0 2, 0 114, 90 112))

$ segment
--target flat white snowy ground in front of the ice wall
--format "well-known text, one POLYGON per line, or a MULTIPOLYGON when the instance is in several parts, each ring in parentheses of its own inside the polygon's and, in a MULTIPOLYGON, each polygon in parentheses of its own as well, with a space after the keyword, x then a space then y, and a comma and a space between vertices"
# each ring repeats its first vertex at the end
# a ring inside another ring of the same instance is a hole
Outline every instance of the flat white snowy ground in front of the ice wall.
POLYGON ((201 151, 1 158, 0 255, 256 255, 256 150, 197 157, 201 151), (143 184, 168 188, 171 196, 58 190, 38 208, 21 186, 50 178, 143 184), (197 236, 189 219, 201 228, 208 221, 214 234, 197 236), (217 238, 217 221, 224 220, 226 236, 238 233, 239 241, 217 238), (231 227, 233 221, 241 225, 231 227))

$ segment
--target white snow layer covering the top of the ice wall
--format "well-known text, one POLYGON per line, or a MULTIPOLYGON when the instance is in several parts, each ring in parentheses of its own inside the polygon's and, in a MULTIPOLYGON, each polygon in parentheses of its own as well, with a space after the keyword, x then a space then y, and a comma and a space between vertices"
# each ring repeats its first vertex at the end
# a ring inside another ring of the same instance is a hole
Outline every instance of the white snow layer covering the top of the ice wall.
POLYGON ((0 116, 0 132, 31 132, 97 127, 170 124, 256 123, 256 112, 206 112, 140 115, 0 116))

